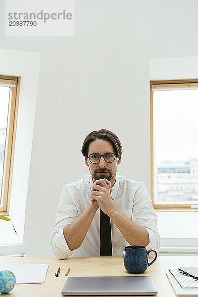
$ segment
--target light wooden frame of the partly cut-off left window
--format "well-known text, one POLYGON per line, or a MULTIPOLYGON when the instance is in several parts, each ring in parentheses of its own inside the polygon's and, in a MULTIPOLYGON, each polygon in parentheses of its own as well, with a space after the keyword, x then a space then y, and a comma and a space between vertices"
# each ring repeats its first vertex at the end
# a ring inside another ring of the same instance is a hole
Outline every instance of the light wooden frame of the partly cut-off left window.
POLYGON ((8 87, 11 88, 11 96, 9 98, 9 107, 8 107, 5 153, 4 153, 4 164, 3 164, 3 182, 2 182, 1 204, 0 204, 0 214, 8 215, 9 205, 10 205, 13 161, 14 161, 14 146, 15 146, 15 139, 16 139, 20 77, 0 75, 0 84, 7 85, 8 87), (15 87, 13 87, 12 85, 15 85, 15 87))

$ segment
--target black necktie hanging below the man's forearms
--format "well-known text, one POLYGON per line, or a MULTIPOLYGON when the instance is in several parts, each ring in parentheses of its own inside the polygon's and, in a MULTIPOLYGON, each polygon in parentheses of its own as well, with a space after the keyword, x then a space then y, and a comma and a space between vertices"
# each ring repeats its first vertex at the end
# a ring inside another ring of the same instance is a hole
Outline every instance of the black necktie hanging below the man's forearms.
POLYGON ((100 209, 100 256, 112 256, 111 222, 100 209))

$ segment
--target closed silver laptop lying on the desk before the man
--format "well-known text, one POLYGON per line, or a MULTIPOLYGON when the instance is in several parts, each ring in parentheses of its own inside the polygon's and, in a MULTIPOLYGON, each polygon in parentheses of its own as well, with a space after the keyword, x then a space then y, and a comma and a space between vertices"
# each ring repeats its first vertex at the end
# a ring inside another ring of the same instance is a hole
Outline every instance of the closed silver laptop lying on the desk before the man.
POLYGON ((151 276, 68 277, 63 296, 156 295, 151 276))

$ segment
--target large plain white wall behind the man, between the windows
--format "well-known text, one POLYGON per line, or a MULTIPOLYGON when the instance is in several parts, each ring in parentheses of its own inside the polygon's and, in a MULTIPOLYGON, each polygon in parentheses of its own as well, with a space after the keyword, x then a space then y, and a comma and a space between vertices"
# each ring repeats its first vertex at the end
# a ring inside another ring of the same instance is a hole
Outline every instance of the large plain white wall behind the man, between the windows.
POLYGON ((76 0, 75 9, 75 37, 9 38, 0 29, 0 48, 42 53, 23 246, 29 255, 52 254, 56 204, 62 186, 88 172, 80 148, 90 131, 115 132, 124 148, 118 173, 150 191, 149 58, 198 55, 197 0, 76 0))

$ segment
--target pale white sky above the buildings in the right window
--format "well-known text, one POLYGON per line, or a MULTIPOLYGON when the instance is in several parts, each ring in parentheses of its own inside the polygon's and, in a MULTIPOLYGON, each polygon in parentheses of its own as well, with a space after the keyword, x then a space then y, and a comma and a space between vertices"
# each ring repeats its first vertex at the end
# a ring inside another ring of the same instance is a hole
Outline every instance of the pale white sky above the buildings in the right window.
POLYGON ((154 158, 198 158, 198 90, 153 92, 154 158))

